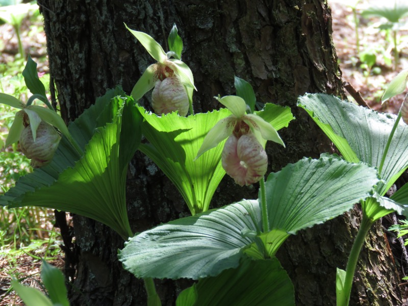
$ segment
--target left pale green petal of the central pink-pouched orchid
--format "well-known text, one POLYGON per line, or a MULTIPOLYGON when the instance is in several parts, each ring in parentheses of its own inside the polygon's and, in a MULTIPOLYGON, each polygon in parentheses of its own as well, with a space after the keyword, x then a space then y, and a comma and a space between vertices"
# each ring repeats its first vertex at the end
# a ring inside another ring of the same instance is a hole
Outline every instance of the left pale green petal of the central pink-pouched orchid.
POLYGON ((235 116, 229 116, 218 121, 202 141, 195 160, 205 151, 216 147, 218 143, 230 136, 233 133, 236 122, 237 118, 235 116))

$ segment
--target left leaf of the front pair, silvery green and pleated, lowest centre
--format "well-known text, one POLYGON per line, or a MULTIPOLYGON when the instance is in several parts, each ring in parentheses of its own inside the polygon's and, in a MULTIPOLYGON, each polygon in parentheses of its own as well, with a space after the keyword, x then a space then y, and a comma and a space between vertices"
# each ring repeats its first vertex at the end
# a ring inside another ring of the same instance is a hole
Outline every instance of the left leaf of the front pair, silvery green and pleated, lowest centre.
POLYGON ((241 235, 243 229, 261 229, 257 200, 243 200, 152 228, 126 243, 119 260, 136 277, 215 276, 238 267, 242 250, 253 242, 241 235))

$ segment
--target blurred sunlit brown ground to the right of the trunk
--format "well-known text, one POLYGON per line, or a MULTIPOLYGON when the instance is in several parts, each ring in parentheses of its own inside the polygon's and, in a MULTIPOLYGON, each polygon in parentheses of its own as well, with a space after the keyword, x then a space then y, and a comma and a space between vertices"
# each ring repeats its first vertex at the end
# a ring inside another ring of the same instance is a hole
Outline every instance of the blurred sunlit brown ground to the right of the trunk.
MULTIPOLYGON (((396 70, 393 65, 386 64, 386 58, 393 63, 393 44, 387 39, 385 31, 379 31, 378 27, 384 23, 378 17, 364 18, 361 12, 368 7, 383 5, 383 0, 364 0, 355 6, 356 0, 328 0, 333 16, 333 41, 339 57, 343 81, 349 82, 356 90, 360 91, 368 106, 380 112, 398 113, 404 94, 391 98, 381 106, 380 99, 388 83, 402 69, 408 68, 408 27, 402 27, 398 32, 399 65, 396 70), (377 49, 376 64, 368 77, 364 75, 365 69, 360 66, 359 52, 356 47, 356 33, 352 7, 355 6, 359 20, 360 53, 365 50, 377 49)), ((404 18, 407 21, 407 17, 404 18)), ((350 100, 354 100, 349 96, 350 100)))

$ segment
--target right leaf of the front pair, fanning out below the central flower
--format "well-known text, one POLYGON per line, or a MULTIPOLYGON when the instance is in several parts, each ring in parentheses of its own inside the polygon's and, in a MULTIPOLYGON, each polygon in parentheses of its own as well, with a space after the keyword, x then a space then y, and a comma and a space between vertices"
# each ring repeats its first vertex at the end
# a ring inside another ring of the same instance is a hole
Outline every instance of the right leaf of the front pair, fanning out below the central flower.
MULTIPOLYGON (((265 182, 269 228, 296 234, 350 210, 372 195, 377 171, 366 164, 348 163, 337 156, 303 158, 265 182)), ((268 235, 268 234, 264 234, 268 235)), ((272 256, 285 237, 261 237, 272 256)))

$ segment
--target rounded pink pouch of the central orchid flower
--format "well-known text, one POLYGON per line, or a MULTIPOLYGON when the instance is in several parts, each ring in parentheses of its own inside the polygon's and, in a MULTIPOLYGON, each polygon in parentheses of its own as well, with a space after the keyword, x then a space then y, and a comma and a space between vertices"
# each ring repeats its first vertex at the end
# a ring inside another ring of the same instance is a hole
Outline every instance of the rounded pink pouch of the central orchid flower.
POLYGON ((268 157, 253 134, 228 137, 222 150, 222 167, 240 186, 259 182, 266 173, 268 157))

